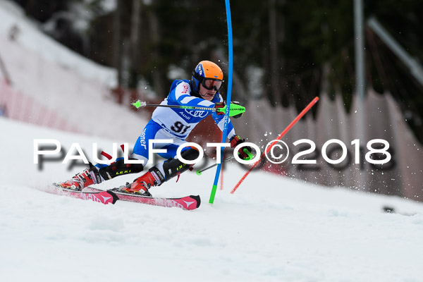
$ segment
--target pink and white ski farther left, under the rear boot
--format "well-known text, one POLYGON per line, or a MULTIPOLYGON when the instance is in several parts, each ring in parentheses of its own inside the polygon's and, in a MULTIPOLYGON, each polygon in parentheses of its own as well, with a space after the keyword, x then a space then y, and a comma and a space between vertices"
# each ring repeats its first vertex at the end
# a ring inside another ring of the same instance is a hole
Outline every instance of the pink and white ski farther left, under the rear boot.
POLYGON ((94 202, 101 202, 102 204, 114 204, 117 200, 119 200, 118 196, 108 190, 108 191, 92 191, 92 192, 82 192, 82 191, 75 191, 67 188, 63 188, 59 185, 53 184, 49 186, 47 192, 56 195, 65 195, 69 197, 74 197, 82 200, 91 200, 94 202))

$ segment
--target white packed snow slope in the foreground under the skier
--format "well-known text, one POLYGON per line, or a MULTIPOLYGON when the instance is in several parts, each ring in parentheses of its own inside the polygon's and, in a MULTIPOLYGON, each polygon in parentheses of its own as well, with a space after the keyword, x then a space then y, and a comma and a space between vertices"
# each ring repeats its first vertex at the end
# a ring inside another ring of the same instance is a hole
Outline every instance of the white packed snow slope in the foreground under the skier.
POLYGON ((93 142, 110 151, 111 142, 128 140, 6 118, 0 129, 1 281, 422 281, 422 203, 263 172, 250 173, 231 195, 245 173, 231 164, 213 205, 212 169, 152 188, 155 196, 200 195, 195 211, 104 205, 42 191, 82 167, 68 171, 56 160, 39 170, 34 140, 59 140, 65 150, 78 142, 89 159, 93 142))

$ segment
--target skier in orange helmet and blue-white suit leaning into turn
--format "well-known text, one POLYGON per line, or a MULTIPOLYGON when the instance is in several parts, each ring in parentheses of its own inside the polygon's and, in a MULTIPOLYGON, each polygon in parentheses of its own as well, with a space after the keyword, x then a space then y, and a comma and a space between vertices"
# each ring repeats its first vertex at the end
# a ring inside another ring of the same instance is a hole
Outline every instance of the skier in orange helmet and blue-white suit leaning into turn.
MULTIPOLYGON (((223 98, 219 94, 219 88, 223 82, 223 72, 221 68, 212 61, 200 61, 192 72, 191 80, 174 80, 168 97, 161 102, 162 105, 183 105, 183 106, 202 106, 209 108, 223 108, 225 106, 223 98)), ((184 144, 195 125, 202 121, 206 116, 212 114, 214 121, 223 130, 224 112, 221 111, 195 111, 188 109, 176 109, 168 107, 157 107, 152 114, 152 119, 147 123, 140 137, 130 154, 130 160, 143 160, 147 164, 149 156, 149 140, 171 139, 172 143, 154 143, 154 149, 166 149, 166 153, 159 153, 166 161, 149 168, 149 170, 133 183, 128 184, 122 190, 128 193, 137 193, 144 196, 152 196, 149 188, 161 185, 167 180, 178 176, 187 171, 192 164, 184 164, 177 159, 176 150, 184 144)), ((242 114, 234 116, 238 118, 242 114)), ((244 142, 238 135, 231 121, 228 123, 228 139, 231 147, 235 148, 244 142)), ((251 147, 245 146, 238 151, 241 159, 248 159, 244 152, 251 153, 251 147)), ((183 159, 194 160, 199 156, 195 147, 185 147, 180 155, 183 159)), ((71 180, 59 183, 62 188, 71 190, 82 190, 83 188, 102 183, 104 180, 115 178, 116 176, 128 173, 140 173, 144 169, 142 164, 124 164, 123 158, 118 158, 112 164, 97 164, 78 173, 71 180)))

